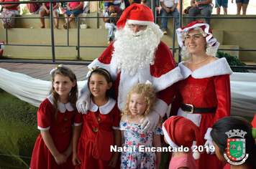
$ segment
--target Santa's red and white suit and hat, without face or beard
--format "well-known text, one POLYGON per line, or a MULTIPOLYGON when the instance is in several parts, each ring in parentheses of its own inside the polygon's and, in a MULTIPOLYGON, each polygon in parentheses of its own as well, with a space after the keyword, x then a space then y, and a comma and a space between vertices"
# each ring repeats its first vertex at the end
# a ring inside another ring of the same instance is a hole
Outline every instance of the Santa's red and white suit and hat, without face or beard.
MULTIPOLYGON (((118 31, 122 31, 124 26, 129 24, 140 24, 147 25, 154 29, 159 36, 157 38, 163 37, 163 32, 160 31, 159 26, 154 23, 154 16, 149 7, 143 4, 132 4, 127 9, 124 10, 124 13, 120 17, 117 22, 118 31)), ((117 34, 116 32, 116 34, 117 34)), ((134 41, 136 39, 134 38, 134 41)), ((115 89, 116 95, 118 96, 117 102, 119 110, 124 109, 125 99, 129 92, 129 89, 132 88, 134 84, 145 83, 147 80, 152 82, 152 86, 157 92, 158 100, 155 106, 155 110, 153 110, 155 114, 153 119, 155 119, 155 125, 158 122, 159 115, 163 117, 168 110, 168 105, 175 95, 175 82, 178 82, 183 77, 180 74, 180 69, 176 67, 175 60, 173 59, 173 54, 170 52, 170 49, 166 44, 159 41, 158 47, 155 51, 155 57, 151 61, 151 64, 146 64, 143 67, 136 67, 136 71, 131 75, 130 72, 124 73, 122 67, 118 69, 116 65, 116 57, 113 54, 115 52, 114 44, 118 42, 119 39, 116 38, 116 41, 109 45, 109 47, 101 54, 101 57, 95 59, 91 64, 88 65, 88 68, 98 65, 101 68, 107 69, 113 80, 115 81, 115 89)), ((141 44, 143 45, 143 44, 141 44)), ((136 55, 136 53, 134 53, 136 55)), ((144 62, 144 56, 142 57, 142 62, 144 62)), ((83 87, 85 90, 87 87, 83 87)), ((82 92, 83 92, 82 90, 82 92)), ((82 110, 80 108, 86 100, 88 103, 88 99, 86 98, 86 94, 88 92, 83 92, 81 95, 82 99, 78 100, 77 107, 78 110, 82 110)), ((87 106, 87 105, 86 105, 87 106)))

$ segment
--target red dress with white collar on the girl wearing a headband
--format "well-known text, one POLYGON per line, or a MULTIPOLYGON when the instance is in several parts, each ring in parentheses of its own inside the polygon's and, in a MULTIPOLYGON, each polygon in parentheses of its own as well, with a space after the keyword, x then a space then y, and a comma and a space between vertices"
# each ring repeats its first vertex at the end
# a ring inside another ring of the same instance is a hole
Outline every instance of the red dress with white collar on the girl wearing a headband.
MULTIPOLYGON (((92 113, 95 113, 97 120, 99 120, 101 129, 109 132, 113 132, 113 129, 119 130, 120 112, 116 105, 116 100, 109 97, 109 102, 101 107, 95 105, 91 100, 88 114, 83 115, 83 128, 78 142, 78 158, 81 160, 81 165, 77 165, 76 169, 110 169, 109 161, 97 160, 92 155, 97 132, 93 130, 96 128, 96 124, 93 121, 92 113)), ((102 153, 104 154, 104 152, 102 153)))

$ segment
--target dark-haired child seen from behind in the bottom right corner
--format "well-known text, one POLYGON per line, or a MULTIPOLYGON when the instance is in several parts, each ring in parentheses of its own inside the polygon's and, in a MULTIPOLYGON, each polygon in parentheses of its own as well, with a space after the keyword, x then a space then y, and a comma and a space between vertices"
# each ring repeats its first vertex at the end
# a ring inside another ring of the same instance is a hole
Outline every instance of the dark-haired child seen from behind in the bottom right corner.
POLYGON ((214 123, 211 130, 211 137, 215 146, 215 153, 219 160, 226 163, 224 169, 230 168, 241 168, 241 169, 255 169, 256 168, 256 128, 252 128, 252 125, 249 121, 245 120, 243 117, 224 117, 221 120, 218 120, 214 123), (234 132, 234 130, 239 130, 238 132, 234 132), (232 134, 230 134, 230 132, 232 134), (243 135, 239 135, 244 132, 243 135), (238 140, 245 139, 245 147, 243 148, 242 144, 237 145, 239 142, 230 142, 230 149, 228 149, 227 141, 228 138, 230 140, 238 140), (234 147, 233 147, 234 146, 234 147), (240 148, 240 149, 239 149, 240 148), (233 151, 232 150, 239 150, 233 151), (237 152, 237 158, 242 158, 241 160, 229 159, 229 152, 232 157, 236 157, 235 152, 237 152), (245 153, 243 156, 242 153, 245 153), (241 156, 242 155, 242 156, 241 156), (226 156, 226 157, 225 157, 226 156), (247 158, 246 158, 247 157, 247 158), (244 160, 244 161, 243 161, 244 160))

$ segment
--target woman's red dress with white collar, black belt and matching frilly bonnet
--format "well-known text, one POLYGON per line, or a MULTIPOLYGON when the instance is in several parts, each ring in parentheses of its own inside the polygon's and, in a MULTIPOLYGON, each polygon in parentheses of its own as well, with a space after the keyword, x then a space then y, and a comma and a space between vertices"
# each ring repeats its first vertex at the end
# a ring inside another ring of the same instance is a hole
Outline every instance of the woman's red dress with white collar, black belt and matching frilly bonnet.
MULTIPOLYGON (((211 44, 211 47, 215 49, 219 47, 219 42, 216 42, 213 37, 209 24, 203 21, 193 21, 186 27, 180 27, 176 30, 180 47, 185 45, 182 37, 180 37, 181 32, 188 32, 188 30, 195 27, 203 29, 207 34, 205 37, 206 42, 211 44)), ((194 71, 184 66, 183 62, 180 62, 178 67, 180 67, 180 72, 184 79, 178 82, 178 90, 170 115, 181 115, 192 120, 199 127, 201 137, 204 137, 205 145, 213 145, 210 136, 212 125, 222 117, 230 115, 229 75, 232 74, 232 70, 225 58, 205 64, 194 71), (188 113, 191 110, 191 105, 193 105, 192 114, 188 113)), ((211 169, 223 168, 223 164, 214 155, 214 152, 208 153, 201 155, 201 158, 197 161, 198 167, 200 169, 209 168, 210 164, 211 169)))

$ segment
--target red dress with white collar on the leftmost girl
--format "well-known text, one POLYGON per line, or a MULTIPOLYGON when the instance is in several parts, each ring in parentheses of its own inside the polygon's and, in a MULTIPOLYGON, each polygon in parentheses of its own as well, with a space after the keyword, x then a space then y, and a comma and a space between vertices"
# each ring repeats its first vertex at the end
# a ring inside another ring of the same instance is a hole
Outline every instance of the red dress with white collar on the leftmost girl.
MULTIPOLYGON (((60 153, 63 153, 68 148, 70 141, 72 140, 72 125, 82 125, 81 113, 75 112, 73 105, 68 102, 63 104, 58 102, 59 117, 55 122, 52 119, 52 95, 49 95, 47 99, 42 101, 37 111, 37 128, 39 130, 49 130, 53 143, 60 153)), ((58 165, 55 158, 50 153, 50 150, 45 145, 42 135, 38 135, 35 148, 32 153, 32 159, 30 163, 31 169, 72 169, 75 168, 72 163, 72 154, 68 157, 67 162, 62 165, 58 165)))

